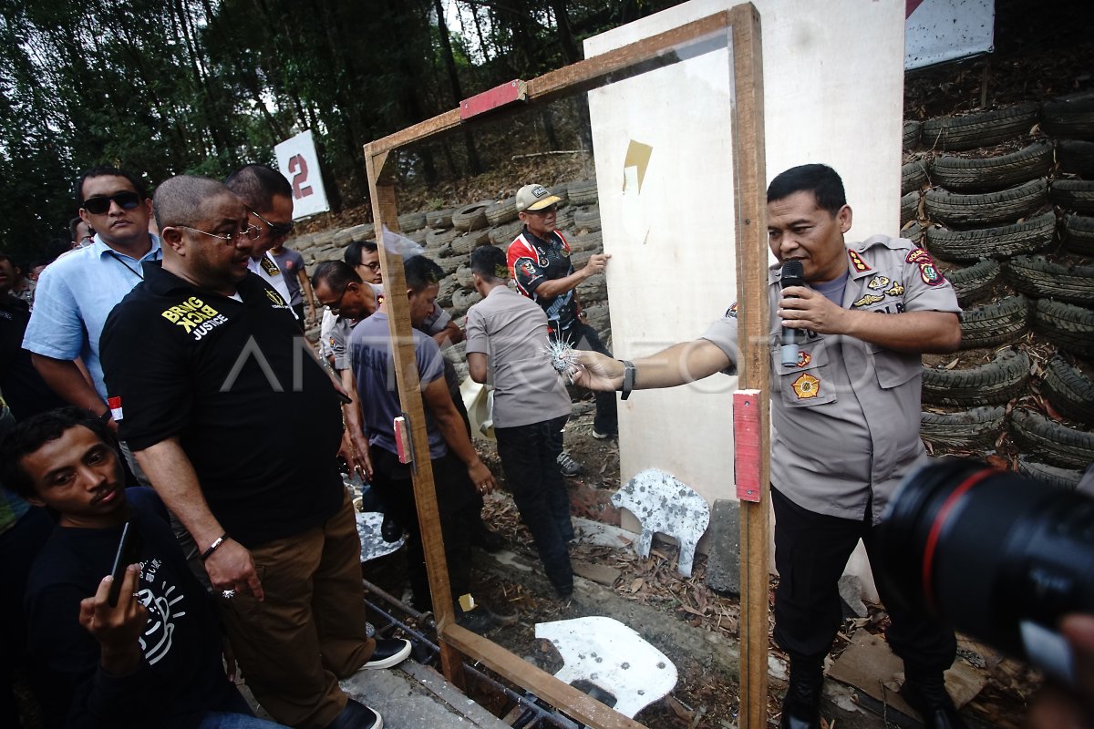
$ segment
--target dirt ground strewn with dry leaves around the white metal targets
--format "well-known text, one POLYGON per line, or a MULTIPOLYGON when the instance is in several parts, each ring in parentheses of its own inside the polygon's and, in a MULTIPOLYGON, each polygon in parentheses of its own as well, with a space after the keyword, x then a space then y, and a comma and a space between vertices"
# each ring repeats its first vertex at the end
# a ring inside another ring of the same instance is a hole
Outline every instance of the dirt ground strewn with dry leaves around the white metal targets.
MULTIPOLYGON (((581 405, 577 410, 581 410, 581 405)), ((591 435, 592 412, 571 419, 566 431, 568 451, 585 465, 585 472, 568 480, 571 491, 591 486, 607 492, 618 487, 619 452, 614 440, 596 440, 591 435)), ((491 528, 505 541, 505 552, 499 560, 475 550, 474 590, 490 604, 508 603, 517 612, 514 625, 498 626, 487 637, 548 672, 561 668, 562 662, 554 647, 535 637, 535 624, 585 615, 606 615, 637 630, 647 640, 664 652, 676 666, 679 680, 674 691, 664 699, 654 702, 638 714, 636 719, 651 729, 721 729, 735 727, 737 721, 738 671, 738 600, 720 595, 706 586, 707 557, 696 555, 690 578, 676 572, 676 549, 671 544, 654 542, 649 557, 641 558, 631 549, 614 549, 587 543, 571 545, 575 569, 580 565, 608 566, 618 571, 610 585, 579 580, 575 599, 560 601, 556 598, 532 548, 532 538, 520 518, 512 499, 505 492, 504 475, 492 444, 476 442, 479 452, 496 475, 500 490, 487 498, 484 516, 491 528)), ((381 565, 366 565, 365 577, 388 591, 400 595, 401 576, 405 574, 398 555, 381 565)), ((773 599, 777 580, 772 578, 769 600, 773 599)), ((887 626, 884 610, 868 604, 865 618, 848 618, 843 623, 833 657, 837 658, 856 631, 880 634, 887 626)), ((784 666, 785 656, 769 645, 776 665, 784 666)), ((987 686, 964 710, 970 727, 1021 727, 1025 702, 1039 686, 1035 671, 992 654, 978 649, 974 644, 963 644, 958 660, 982 670, 987 686)), ((836 682, 829 680, 830 685, 836 682)), ((770 680, 768 717, 778 720, 782 681, 770 680)), ((828 727, 848 729, 875 729, 889 726, 917 726, 913 719, 888 709, 888 722, 877 712, 885 707, 872 704, 839 684, 835 690, 861 701, 868 712, 847 710, 829 695, 825 703, 828 727)), ((829 690, 829 694, 833 691, 829 690)), ((501 712, 504 702, 491 707, 489 696, 478 696, 480 703, 501 712)))

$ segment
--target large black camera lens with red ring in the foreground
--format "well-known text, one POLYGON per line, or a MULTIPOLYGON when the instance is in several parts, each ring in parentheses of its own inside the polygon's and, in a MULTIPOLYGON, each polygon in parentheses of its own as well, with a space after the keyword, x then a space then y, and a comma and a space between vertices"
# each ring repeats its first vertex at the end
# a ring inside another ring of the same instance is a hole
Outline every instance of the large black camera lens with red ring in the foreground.
POLYGON ((1059 619, 1094 612, 1094 499, 1084 494, 940 459, 901 484, 877 545, 889 599, 1054 672, 1059 619))

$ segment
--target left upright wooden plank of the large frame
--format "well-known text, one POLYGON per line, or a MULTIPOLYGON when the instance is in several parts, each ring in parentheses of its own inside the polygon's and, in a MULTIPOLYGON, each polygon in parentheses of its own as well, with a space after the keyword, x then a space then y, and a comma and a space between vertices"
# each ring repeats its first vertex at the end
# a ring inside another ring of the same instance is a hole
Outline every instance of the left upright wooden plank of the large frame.
MULTIPOLYGON (((398 232, 398 208, 395 203, 395 187, 381 184, 377 176, 386 162, 386 153, 374 154, 364 148, 365 168, 369 173, 369 192, 372 198, 372 219, 376 226, 376 240, 383 242, 384 226, 398 232)), ((433 599, 433 614, 439 625, 452 623, 455 614, 452 605, 452 589, 449 586, 449 563, 444 556, 444 540, 441 534, 441 518, 437 507, 437 490, 433 485, 433 468, 429 459, 429 435, 426 431, 426 414, 421 401, 421 383, 418 379, 418 361, 415 355, 414 333, 410 326, 410 306, 406 296, 398 292, 407 290, 403 259, 388 252, 380 245, 380 268, 384 277, 384 298, 387 308, 387 325, 392 337, 392 360, 399 402, 410 426, 414 444, 414 493, 418 505, 418 527, 421 530, 422 550, 426 553, 426 569, 429 573, 429 592, 433 599)), ((451 646, 441 645, 441 667, 444 678, 464 687, 463 657, 451 646)))

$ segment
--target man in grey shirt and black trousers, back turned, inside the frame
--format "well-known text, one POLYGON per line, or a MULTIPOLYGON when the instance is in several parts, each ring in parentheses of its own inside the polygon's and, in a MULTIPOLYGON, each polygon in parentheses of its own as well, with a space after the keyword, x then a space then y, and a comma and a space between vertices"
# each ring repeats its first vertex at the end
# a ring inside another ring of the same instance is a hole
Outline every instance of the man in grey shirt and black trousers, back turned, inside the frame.
POLYGON ((467 311, 467 368, 476 383, 493 385, 498 455, 547 578, 565 599, 573 592, 566 545, 573 524, 558 456, 570 395, 544 354, 547 315, 505 285, 505 254, 493 246, 476 248, 472 272, 482 301, 467 311))

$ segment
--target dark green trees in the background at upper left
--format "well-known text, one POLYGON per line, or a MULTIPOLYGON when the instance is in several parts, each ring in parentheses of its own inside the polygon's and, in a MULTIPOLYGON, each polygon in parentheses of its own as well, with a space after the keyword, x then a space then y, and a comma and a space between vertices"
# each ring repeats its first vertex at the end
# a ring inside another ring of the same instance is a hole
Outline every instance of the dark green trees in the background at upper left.
MULTIPOLYGON (((272 163, 305 129, 331 201, 359 204, 369 141, 558 68, 577 38, 667 4, 443 0, 444 44, 437 0, 0 0, 0 249, 28 260, 67 239, 73 180, 93 165, 150 188, 222 177, 272 163)), ((474 150, 433 156, 408 174, 458 175, 474 150)))

